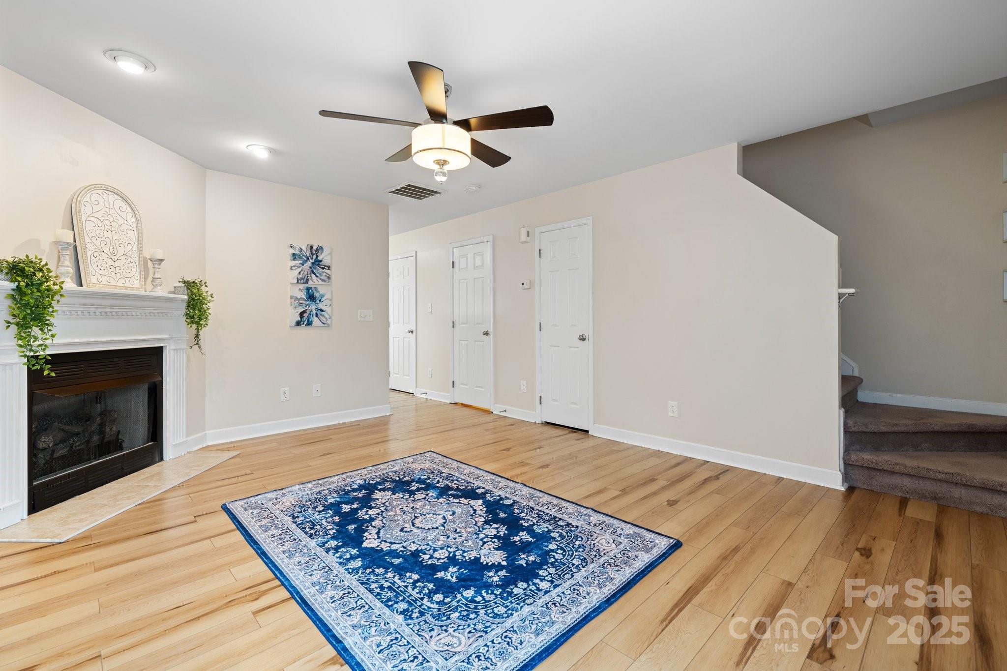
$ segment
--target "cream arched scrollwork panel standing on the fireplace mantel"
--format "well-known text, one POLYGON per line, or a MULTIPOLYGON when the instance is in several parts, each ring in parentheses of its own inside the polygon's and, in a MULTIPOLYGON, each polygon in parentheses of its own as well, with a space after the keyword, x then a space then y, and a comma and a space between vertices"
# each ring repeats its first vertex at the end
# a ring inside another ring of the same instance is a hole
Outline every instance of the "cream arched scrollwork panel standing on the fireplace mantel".
POLYGON ((143 224, 125 193, 108 184, 82 186, 70 216, 85 287, 146 291, 143 224))

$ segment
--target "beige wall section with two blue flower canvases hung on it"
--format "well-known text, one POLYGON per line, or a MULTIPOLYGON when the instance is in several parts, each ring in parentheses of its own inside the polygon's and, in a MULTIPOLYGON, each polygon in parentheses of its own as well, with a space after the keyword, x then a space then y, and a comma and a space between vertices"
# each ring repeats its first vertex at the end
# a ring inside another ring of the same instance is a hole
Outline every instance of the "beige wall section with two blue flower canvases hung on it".
POLYGON ((210 431, 388 404, 386 205, 207 171, 206 248, 210 431), (291 242, 333 246, 331 327, 287 325, 291 242))

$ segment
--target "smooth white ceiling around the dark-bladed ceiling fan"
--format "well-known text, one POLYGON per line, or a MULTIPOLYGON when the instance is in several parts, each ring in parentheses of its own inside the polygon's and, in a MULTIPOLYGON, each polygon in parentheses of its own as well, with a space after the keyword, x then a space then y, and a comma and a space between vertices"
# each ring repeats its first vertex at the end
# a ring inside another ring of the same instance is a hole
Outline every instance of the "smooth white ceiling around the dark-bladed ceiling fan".
POLYGON ((401 232, 730 142, 749 143, 1007 74, 987 0, 2 0, 0 63, 213 170, 386 202, 401 232), (102 55, 156 66, 128 75, 102 55), (510 154, 448 192, 384 159, 420 121, 406 65, 444 69, 455 119, 549 105, 551 128, 473 137, 510 154), (250 143, 276 149, 268 161, 250 143), (476 194, 465 185, 480 184, 476 194))

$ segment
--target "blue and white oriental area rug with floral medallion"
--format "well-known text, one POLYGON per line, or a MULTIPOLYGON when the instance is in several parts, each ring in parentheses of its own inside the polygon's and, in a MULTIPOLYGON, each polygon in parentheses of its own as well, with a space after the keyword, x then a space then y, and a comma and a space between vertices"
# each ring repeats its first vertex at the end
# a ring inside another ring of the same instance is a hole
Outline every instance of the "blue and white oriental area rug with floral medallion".
POLYGON ((433 452, 224 509, 357 671, 532 669, 682 545, 433 452))

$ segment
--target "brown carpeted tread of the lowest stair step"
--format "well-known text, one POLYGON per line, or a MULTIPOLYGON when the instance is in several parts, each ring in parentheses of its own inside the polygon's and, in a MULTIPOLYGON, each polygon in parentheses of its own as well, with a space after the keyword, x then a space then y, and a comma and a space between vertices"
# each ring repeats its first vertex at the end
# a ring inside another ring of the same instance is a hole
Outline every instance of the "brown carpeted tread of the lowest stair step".
POLYGON ((1003 452, 848 452, 843 461, 879 471, 1007 492, 1007 453, 1003 452))

